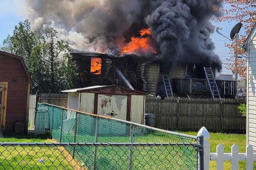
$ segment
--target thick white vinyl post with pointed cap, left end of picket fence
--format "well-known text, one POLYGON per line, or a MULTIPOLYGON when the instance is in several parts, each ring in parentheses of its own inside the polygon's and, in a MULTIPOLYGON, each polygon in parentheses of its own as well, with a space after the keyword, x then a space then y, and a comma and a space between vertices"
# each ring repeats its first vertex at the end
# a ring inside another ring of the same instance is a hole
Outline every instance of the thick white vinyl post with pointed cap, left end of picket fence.
POLYGON ((209 170, 210 143, 208 142, 208 139, 210 138, 210 134, 205 127, 202 127, 197 133, 197 136, 202 135, 204 137, 204 170, 209 170))

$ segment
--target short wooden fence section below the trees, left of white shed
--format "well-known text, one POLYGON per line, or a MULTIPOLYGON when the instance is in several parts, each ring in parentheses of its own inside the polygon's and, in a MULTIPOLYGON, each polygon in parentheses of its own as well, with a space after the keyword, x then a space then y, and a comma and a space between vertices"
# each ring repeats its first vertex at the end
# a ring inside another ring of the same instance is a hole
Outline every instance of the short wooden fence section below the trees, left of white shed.
POLYGON ((56 106, 68 107, 68 94, 40 94, 39 103, 49 103, 56 106))

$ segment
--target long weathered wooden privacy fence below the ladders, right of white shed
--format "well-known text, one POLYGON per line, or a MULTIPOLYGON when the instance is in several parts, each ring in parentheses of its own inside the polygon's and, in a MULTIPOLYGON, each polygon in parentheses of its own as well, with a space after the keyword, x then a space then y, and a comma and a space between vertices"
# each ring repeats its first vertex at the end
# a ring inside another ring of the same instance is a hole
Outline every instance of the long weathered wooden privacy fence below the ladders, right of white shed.
POLYGON ((205 126, 213 132, 246 133, 246 118, 238 106, 246 100, 160 97, 146 98, 146 112, 157 117, 157 128, 197 131, 205 126))

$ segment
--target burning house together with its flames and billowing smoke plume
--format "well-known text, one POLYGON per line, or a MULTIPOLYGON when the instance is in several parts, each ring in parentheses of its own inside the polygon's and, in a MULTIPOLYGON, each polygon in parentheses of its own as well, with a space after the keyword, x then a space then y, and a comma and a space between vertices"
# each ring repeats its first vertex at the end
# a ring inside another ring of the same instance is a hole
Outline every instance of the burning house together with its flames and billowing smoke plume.
POLYGON ((112 85, 152 95, 233 97, 210 35, 217 0, 27 1, 38 32, 53 27, 79 67, 81 87, 112 85), (41 3, 44 3, 41 5, 41 3), (96 51, 96 52, 92 52, 96 51))

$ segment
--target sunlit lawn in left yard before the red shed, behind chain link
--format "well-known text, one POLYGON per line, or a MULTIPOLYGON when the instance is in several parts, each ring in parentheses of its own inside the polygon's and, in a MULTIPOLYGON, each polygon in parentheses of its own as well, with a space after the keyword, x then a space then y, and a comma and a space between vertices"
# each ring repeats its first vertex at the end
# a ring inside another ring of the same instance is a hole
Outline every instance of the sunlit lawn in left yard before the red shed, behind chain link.
MULTIPOLYGON (((45 136, 31 135, 4 135, 0 142, 29 142, 29 143, 53 143, 45 136)), ((38 147, 33 146, 0 146, 0 170, 73 170, 80 169, 80 165, 72 160, 71 155, 64 147, 38 147), (44 159, 40 163, 39 159, 44 159), (73 168, 74 167, 74 168, 73 168)))

